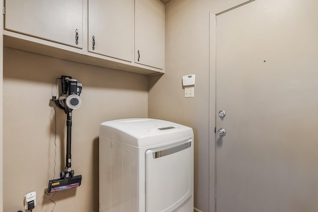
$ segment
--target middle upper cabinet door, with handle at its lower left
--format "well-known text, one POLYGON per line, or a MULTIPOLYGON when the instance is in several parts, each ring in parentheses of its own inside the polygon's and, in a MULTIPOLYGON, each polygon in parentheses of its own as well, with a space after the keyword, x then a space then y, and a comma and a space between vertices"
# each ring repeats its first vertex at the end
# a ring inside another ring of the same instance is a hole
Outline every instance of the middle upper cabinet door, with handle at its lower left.
POLYGON ((88 0, 88 51, 132 61, 134 0, 88 0))

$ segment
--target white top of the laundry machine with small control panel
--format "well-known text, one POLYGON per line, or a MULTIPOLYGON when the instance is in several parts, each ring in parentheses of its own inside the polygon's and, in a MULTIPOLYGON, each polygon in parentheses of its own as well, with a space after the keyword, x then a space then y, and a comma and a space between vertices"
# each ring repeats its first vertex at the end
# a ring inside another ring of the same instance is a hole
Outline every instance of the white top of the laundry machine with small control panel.
POLYGON ((193 136, 192 128, 151 118, 129 118, 100 124, 99 135, 136 147, 146 147, 193 136))

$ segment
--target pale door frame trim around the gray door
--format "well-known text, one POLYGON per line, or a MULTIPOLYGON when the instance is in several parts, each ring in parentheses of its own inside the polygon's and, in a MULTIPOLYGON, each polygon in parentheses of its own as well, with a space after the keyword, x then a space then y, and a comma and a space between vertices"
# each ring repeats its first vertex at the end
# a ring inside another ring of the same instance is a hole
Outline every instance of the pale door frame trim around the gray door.
POLYGON ((255 0, 214 14, 209 12, 209 212, 216 212, 216 28, 217 16, 255 0))

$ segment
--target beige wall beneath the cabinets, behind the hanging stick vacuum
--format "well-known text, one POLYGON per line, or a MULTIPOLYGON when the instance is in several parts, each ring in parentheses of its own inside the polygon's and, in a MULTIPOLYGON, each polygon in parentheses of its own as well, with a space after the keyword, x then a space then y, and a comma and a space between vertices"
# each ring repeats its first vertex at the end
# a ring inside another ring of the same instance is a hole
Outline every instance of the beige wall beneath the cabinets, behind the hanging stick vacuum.
MULTIPOLYGON (((44 194, 54 168, 55 79, 70 75, 82 85, 82 106, 73 112, 72 167, 82 185, 58 192, 55 212, 98 212, 98 134, 106 120, 147 117, 148 78, 48 56, 4 48, 3 205, 23 209, 23 197, 36 191, 35 211, 49 212, 44 194)), ((56 175, 65 166, 66 115, 57 108, 56 175)), ((52 196, 51 196, 52 197, 52 196)), ((23 210, 22 210, 23 211, 23 210)))

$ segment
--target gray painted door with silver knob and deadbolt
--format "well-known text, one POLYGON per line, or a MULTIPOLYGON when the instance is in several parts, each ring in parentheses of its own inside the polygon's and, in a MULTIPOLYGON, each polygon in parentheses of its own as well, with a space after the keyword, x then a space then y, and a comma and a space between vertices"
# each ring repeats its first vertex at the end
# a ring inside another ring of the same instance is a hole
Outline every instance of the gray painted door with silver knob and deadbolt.
POLYGON ((255 0, 217 16, 217 212, 318 212, 317 10, 255 0))

